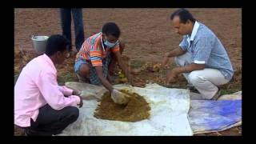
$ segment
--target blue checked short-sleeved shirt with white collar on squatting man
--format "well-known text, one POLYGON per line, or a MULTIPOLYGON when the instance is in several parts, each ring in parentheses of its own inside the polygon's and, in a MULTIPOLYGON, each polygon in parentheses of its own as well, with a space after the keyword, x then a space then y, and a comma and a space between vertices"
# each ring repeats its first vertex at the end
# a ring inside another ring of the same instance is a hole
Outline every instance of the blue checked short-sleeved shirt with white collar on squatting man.
POLYGON ((233 77, 234 70, 222 42, 204 24, 195 22, 191 36, 184 35, 179 46, 192 55, 194 63, 220 70, 227 80, 233 77))

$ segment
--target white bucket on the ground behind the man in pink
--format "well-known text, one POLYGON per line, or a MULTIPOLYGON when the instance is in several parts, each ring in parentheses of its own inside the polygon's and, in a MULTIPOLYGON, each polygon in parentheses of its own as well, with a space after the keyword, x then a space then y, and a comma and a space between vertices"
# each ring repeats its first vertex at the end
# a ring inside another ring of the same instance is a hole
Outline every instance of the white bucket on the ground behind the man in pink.
POLYGON ((48 38, 48 36, 32 36, 33 47, 37 54, 45 53, 48 38))

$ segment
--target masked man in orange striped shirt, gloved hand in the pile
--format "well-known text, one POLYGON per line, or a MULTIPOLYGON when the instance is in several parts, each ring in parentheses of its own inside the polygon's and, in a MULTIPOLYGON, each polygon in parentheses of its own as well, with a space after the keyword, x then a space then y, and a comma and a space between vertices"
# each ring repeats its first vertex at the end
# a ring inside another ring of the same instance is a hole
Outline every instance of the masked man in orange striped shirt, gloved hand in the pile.
MULTIPOLYGON (((76 55, 74 71, 80 82, 90 82, 94 85, 103 85, 111 92, 114 102, 117 98, 124 100, 123 94, 115 90, 110 83, 110 62, 116 60, 118 66, 126 74, 131 82, 130 70, 124 66, 120 51, 123 45, 118 38, 121 32, 114 22, 108 22, 102 27, 102 32, 94 34, 86 39, 76 55)), ((120 100, 120 101, 122 101, 120 100)), ((126 100, 117 103, 127 102, 126 100)))

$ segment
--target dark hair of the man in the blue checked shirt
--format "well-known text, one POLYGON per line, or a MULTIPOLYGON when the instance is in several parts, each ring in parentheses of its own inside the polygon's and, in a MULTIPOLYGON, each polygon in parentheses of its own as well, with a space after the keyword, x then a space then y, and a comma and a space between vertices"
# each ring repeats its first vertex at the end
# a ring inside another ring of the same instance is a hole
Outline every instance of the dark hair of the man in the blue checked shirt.
POLYGON ((174 11, 174 13, 170 15, 170 19, 173 20, 175 16, 179 16, 179 19, 182 23, 186 23, 188 20, 191 22, 196 21, 193 15, 190 14, 190 12, 186 9, 178 9, 174 11))

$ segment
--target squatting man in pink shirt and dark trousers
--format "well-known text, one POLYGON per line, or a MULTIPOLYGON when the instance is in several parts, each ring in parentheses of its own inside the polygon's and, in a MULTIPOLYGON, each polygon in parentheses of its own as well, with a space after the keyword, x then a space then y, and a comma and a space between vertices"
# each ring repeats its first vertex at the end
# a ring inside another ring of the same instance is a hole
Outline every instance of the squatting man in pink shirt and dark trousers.
POLYGON ((56 64, 66 58, 69 41, 62 35, 47 40, 46 52, 22 69, 14 86, 14 124, 26 135, 60 134, 79 115, 78 91, 58 86, 56 64))

